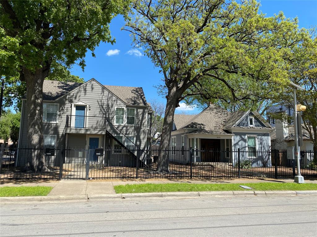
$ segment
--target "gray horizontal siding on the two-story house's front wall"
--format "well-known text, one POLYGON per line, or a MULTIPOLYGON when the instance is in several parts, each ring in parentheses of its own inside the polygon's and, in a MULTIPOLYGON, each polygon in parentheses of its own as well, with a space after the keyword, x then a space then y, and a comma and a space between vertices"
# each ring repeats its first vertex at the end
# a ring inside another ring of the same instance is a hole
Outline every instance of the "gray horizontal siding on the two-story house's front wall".
MULTIPOLYGON (((72 114, 72 103, 82 101, 89 105, 89 109, 86 115, 88 116, 102 116, 106 117, 113 125, 114 125, 114 114, 115 107, 129 107, 136 109, 136 117, 135 117, 135 125, 115 125, 118 130, 120 130, 125 136, 134 136, 135 144, 139 146, 141 149, 145 149, 146 147, 146 137, 147 137, 147 129, 146 129, 146 115, 147 115, 147 107, 146 106, 126 106, 121 100, 119 100, 116 96, 110 93, 107 89, 100 86, 95 81, 90 81, 87 84, 77 88, 73 92, 65 95, 64 97, 56 100, 55 102, 47 102, 44 103, 54 103, 59 104, 58 111, 58 122, 57 123, 44 123, 43 124, 43 132, 44 135, 56 135, 56 148, 62 149, 65 147, 65 134, 67 133, 66 126, 66 115, 72 114)), ((91 133, 95 134, 97 131, 93 131, 92 129, 81 129, 84 134, 75 134, 68 135, 68 147, 79 148, 86 146, 86 134, 91 133)), ((74 131, 74 130, 72 130, 74 131)), ((99 131, 100 132, 100 131, 99 131)), ((111 129, 110 132, 115 136, 120 133, 111 129)), ((104 133, 103 133, 104 134, 104 133)), ((112 148, 112 141, 109 141, 109 138, 106 137, 106 146, 112 148), (107 141, 108 139, 108 141, 107 141)), ((102 147, 103 147, 102 142, 102 147)), ((23 112, 22 112, 22 128, 20 134, 20 147, 24 147, 27 145, 27 111, 26 111, 26 101, 23 100, 23 112)), ((119 157, 120 155, 117 155, 119 157)), ((125 159, 126 155, 121 155, 122 160, 125 159)), ((119 158, 118 158, 119 159, 119 158)), ((126 162, 121 162, 121 164, 125 164, 126 162)), ((129 163, 129 162, 127 162, 129 163)))

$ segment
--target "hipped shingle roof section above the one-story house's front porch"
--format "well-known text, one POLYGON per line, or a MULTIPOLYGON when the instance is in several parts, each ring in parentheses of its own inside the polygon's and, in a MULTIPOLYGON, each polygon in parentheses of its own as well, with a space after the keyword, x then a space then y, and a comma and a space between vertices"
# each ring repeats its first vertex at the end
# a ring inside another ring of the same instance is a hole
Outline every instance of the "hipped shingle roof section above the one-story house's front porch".
POLYGON ((196 128, 197 131, 193 131, 192 133, 230 134, 223 130, 225 119, 229 115, 230 112, 227 110, 216 105, 210 105, 190 121, 186 122, 182 128, 196 128))

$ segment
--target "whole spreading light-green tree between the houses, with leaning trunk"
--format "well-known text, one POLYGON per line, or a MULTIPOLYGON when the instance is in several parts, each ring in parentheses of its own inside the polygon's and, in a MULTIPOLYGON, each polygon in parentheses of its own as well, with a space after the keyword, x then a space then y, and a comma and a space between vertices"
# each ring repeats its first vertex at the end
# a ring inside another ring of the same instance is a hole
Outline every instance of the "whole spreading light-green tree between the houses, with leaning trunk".
POLYGON ((257 86, 285 83, 289 63, 283 56, 306 35, 282 13, 259 14, 253 0, 141 0, 133 9, 125 30, 163 76, 166 109, 158 172, 168 172, 167 150, 180 101, 195 95, 243 100, 248 98, 244 89, 254 93, 257 86))

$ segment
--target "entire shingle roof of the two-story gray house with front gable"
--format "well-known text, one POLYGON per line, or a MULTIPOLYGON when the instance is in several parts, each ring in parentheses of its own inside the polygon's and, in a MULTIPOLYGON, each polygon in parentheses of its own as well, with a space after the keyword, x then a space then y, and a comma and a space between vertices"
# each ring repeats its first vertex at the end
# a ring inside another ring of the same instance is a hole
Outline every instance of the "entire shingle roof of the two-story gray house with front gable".
MULTIPOLYGON (((43 100, 57 100, 90 81, 95 81, 100 84, 94 78, 84 83, 44 80, 43 100)), ((127 105, 148 106, 142 87, 103 86, 101 84, 100 86, 106 88, 127 105)), ((23 96, 23 99, 25 98, 26 94, 23 96)))

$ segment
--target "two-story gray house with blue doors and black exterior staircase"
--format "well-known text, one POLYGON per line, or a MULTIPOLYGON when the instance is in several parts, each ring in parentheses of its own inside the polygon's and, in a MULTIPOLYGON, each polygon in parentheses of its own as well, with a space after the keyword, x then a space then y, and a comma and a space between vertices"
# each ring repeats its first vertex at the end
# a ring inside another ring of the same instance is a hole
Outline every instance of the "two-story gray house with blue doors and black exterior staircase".
MULTIPOLYGON (((23 99, 19 147, 27 144, 25 104, 23 99)), ((87 150, 107 148, 108 157, 90 152, 90 161, 129 165, 137 148, 144 150, 151 144, 151 113, 141 87, 107 86, 94 78, 84 83, 45 80, 43 84, 45 147, 74 149, 66 153, 66 161, 84 162, 87 150)))

